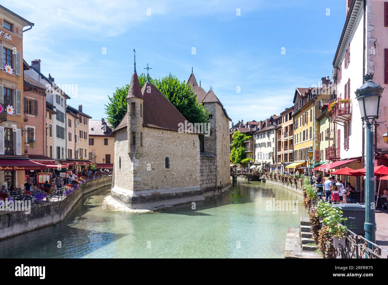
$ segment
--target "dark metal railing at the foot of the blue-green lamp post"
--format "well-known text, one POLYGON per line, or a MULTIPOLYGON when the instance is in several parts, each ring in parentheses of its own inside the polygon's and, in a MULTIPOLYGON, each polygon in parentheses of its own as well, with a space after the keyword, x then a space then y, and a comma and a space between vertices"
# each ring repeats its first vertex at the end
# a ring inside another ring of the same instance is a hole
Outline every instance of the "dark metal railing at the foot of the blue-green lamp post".
POLYGON ((387 258, 388 251, 370 242, 366 238, 356 235, 353 231, 346 228, 345 246, 336 249, 338 258, 387 258), (368 247, 372 245, 372 249, 368 247))

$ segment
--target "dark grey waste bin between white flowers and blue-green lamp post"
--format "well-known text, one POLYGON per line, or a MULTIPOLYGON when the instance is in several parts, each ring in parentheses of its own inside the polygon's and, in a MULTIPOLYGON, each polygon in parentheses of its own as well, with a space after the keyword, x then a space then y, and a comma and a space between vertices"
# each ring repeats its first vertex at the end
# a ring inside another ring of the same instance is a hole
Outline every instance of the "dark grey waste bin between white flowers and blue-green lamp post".
POLYGON ((348 218, 342 225, 357 235, 365 236, 365 204, 331 204, 331 206, 341 208, 343 217, 348 218))

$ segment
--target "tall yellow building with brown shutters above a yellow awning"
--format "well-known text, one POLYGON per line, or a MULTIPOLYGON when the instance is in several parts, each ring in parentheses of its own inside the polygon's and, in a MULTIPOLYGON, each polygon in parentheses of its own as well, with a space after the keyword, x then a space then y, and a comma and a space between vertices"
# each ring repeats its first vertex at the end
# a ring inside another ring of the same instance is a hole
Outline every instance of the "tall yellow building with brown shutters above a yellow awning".
POLYGON ((330 99, 333 92, 330 79, 322 78, 321 87, 296 88, 294 94, 294 163, 290 164, 299 173, 307 173, 307 169, 320 162, 320 148, 317 140, 320 133, 315 118, 320 114, 320 100, 330 99), (314 155, 309 161, 308 150, 314 155))

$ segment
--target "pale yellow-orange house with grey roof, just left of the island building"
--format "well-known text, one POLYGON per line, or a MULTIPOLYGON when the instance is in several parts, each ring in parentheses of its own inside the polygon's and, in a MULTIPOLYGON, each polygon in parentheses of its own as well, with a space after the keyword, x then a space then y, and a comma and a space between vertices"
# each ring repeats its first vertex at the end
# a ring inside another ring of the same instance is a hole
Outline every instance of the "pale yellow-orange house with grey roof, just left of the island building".
POLYGON ((114 136, 104 118, 89 121, 88 159, 97 164, 98 169, 113 169, 114 136))

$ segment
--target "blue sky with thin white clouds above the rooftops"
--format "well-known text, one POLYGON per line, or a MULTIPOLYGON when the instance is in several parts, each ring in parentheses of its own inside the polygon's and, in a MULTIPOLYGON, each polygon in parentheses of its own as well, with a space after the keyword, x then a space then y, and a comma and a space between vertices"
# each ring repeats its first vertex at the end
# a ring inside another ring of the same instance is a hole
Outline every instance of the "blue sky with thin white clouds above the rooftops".
POLYGON ((24 59, 42 60, 42 73, 57 84, 76 85, 68 103, 94 119, 130 82, 136 48, 138 73, 148 63, 153 77, 187 80, 193 66, 234 123, 278 115, 296 87, 331 78, 346 16, 345 0, 13 0, 5 7, 35 23, 24 34, 24 59))

